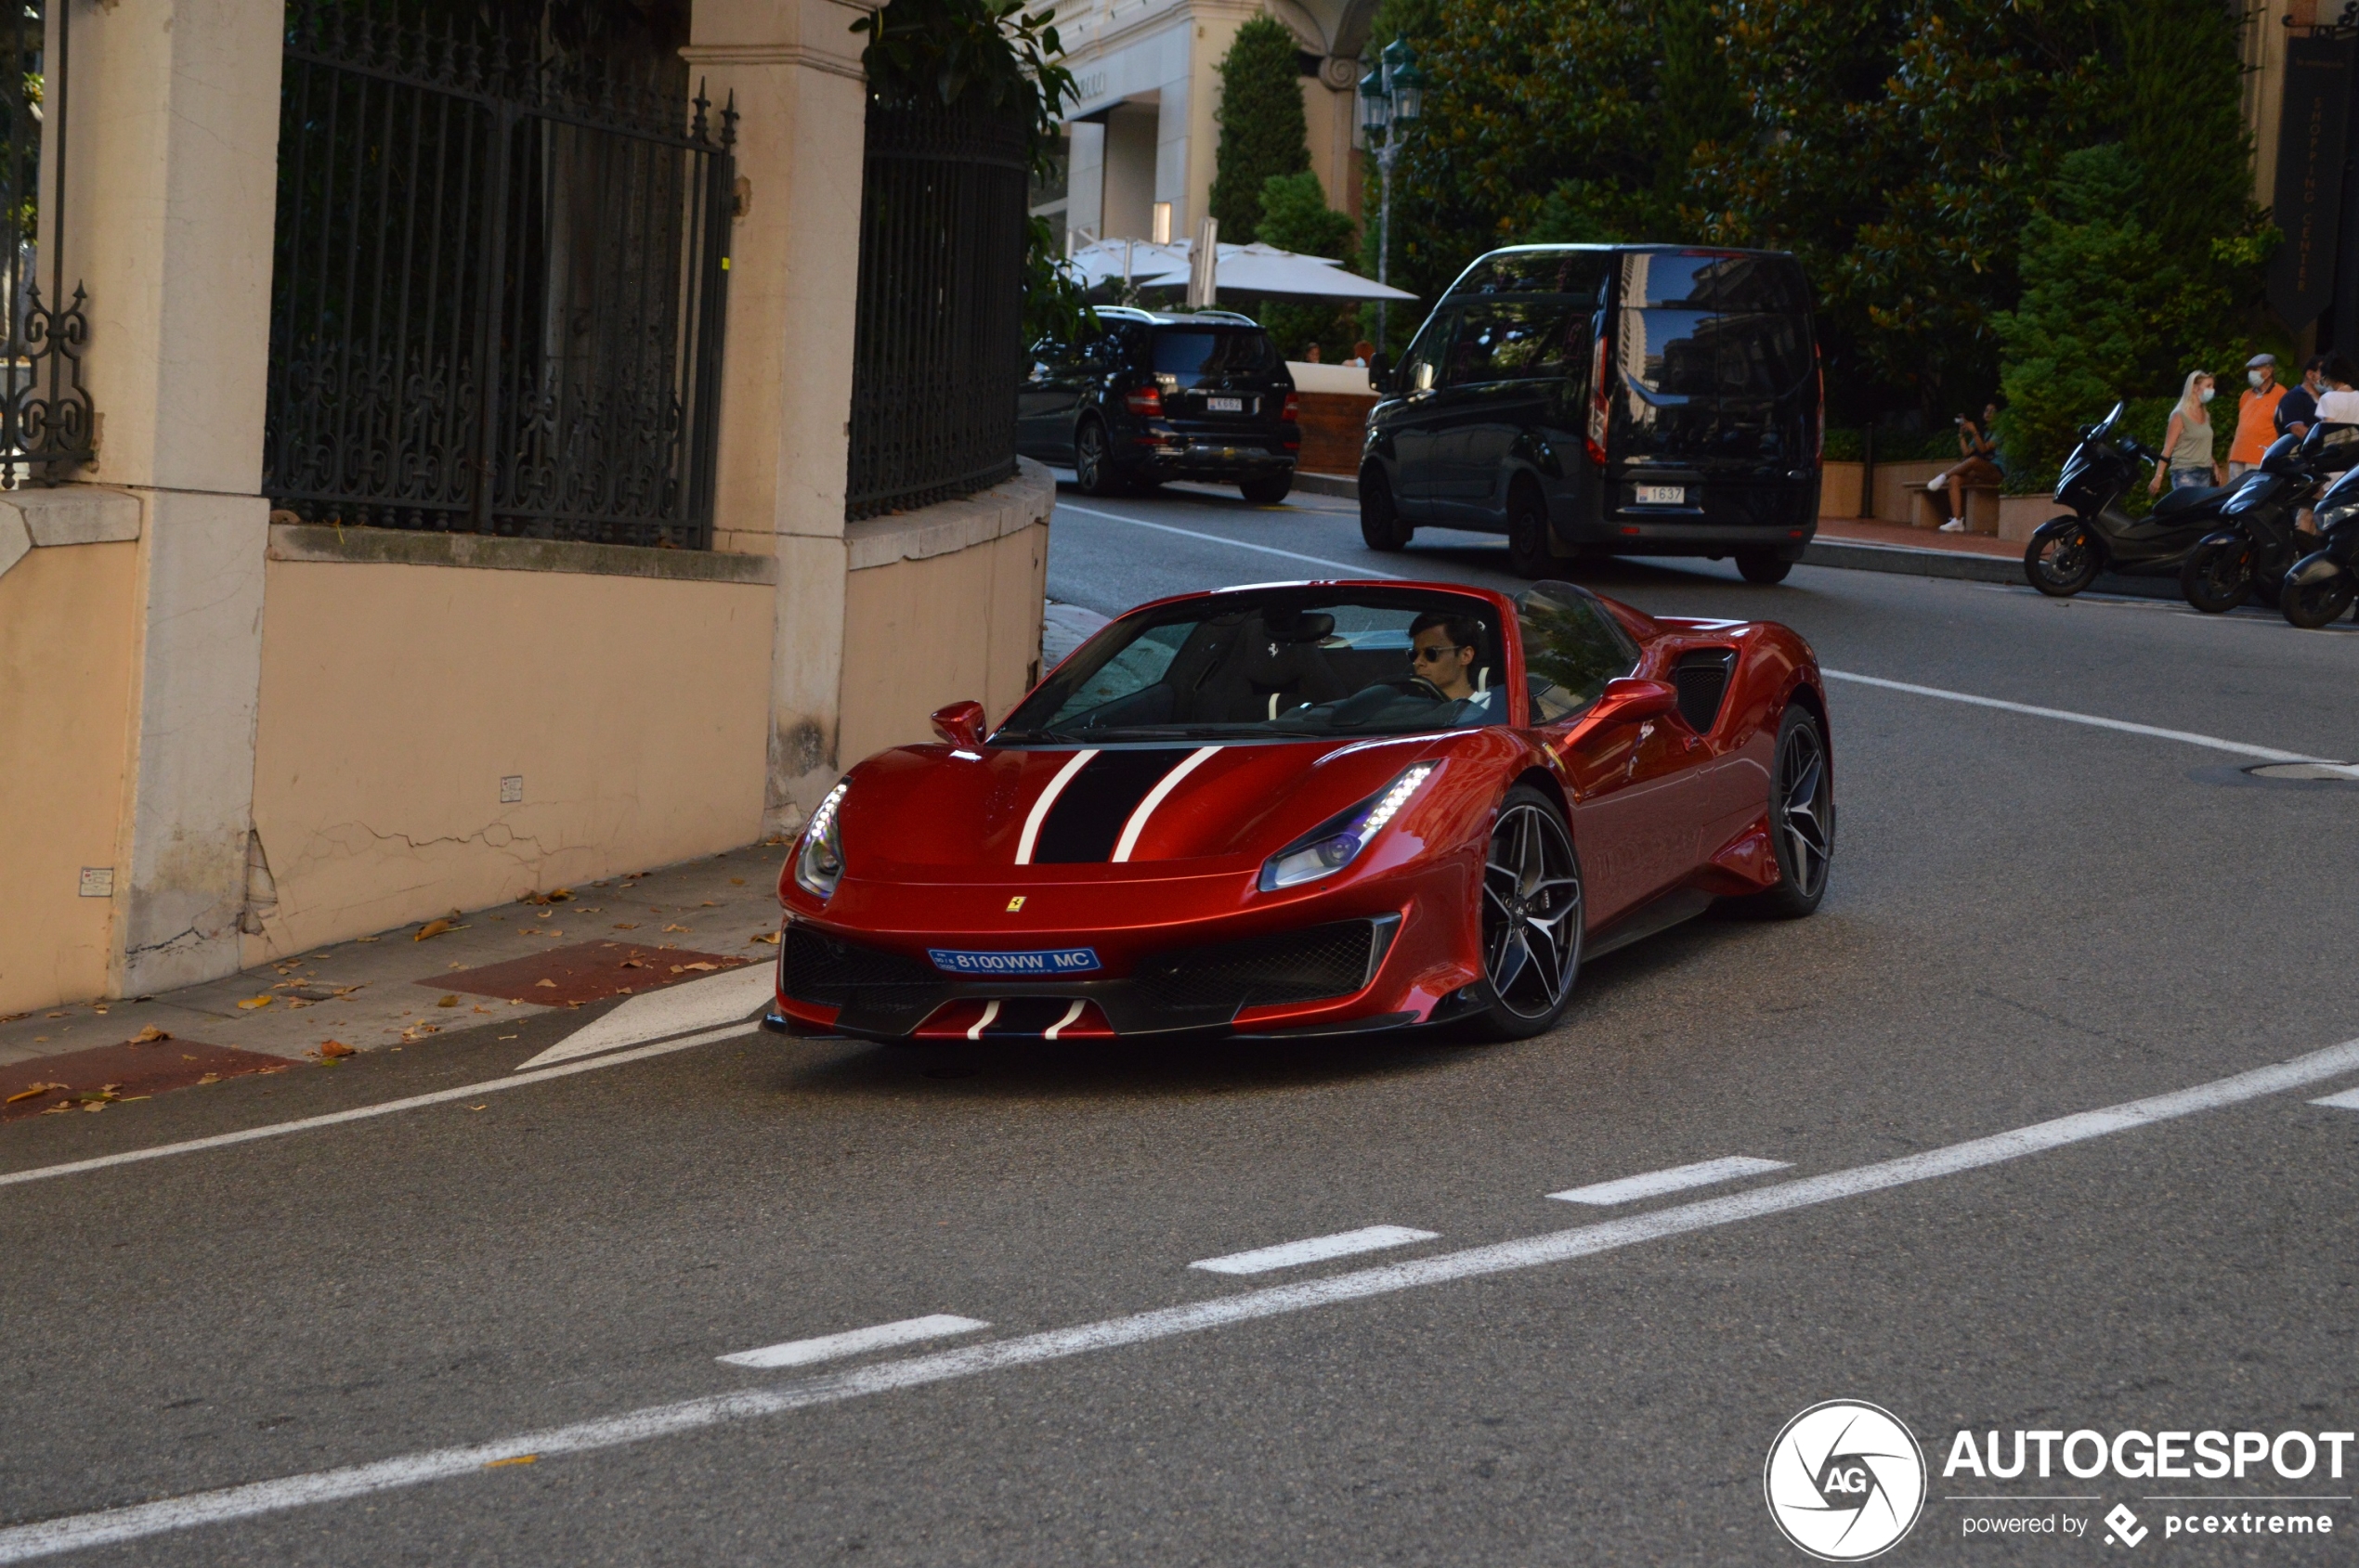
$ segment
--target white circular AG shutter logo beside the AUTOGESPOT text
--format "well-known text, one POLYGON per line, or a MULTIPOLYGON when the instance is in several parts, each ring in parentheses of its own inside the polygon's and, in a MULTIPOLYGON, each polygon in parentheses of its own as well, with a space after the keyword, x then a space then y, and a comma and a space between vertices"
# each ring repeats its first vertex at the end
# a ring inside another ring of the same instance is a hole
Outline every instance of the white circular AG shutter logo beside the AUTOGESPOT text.
POLYGON ((1857 1563, 1897 1544, 1925 1509, 1925 1455, 1890 1410, 1831 1398, 1776 1434, 1762 1490, 1786 1540, 1857 1563))

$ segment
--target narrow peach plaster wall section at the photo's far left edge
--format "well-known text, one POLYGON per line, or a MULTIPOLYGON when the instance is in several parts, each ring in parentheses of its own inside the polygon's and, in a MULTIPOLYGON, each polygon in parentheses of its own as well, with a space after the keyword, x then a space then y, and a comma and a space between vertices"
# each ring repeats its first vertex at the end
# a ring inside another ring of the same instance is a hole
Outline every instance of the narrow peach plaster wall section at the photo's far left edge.
MULTIPOLYGON (((132 714, 139 545, 31 549, 0 573, 0 1014, 106 993, 132 714)), ((118 884, 120 887, 120 884, 118 884)))

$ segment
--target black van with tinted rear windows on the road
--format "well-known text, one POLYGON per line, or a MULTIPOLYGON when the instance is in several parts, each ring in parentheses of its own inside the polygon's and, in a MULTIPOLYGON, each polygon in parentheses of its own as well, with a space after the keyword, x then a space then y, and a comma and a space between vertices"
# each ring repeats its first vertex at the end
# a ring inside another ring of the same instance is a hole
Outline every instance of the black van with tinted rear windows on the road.
POLYGON ((1576 554, 1736 556, 1776 582, 1819 531, 1824 396, 1779 250, 1514 245, 1451 283, 1368 413, 1359 526, 1576 554))

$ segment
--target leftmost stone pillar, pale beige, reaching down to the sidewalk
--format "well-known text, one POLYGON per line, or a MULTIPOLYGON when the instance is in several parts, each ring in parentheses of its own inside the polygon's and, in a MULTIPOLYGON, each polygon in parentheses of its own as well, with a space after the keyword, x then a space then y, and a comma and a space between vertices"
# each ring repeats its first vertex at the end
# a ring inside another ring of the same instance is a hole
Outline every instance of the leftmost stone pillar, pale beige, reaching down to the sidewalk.
POLYGON ((68 290, 90 290, 83 363, 101 420, 83 479, 142 505, 109 983, 149 993, 238 967, 283 5, 52 12, 73 31, 59 245, 68 290))

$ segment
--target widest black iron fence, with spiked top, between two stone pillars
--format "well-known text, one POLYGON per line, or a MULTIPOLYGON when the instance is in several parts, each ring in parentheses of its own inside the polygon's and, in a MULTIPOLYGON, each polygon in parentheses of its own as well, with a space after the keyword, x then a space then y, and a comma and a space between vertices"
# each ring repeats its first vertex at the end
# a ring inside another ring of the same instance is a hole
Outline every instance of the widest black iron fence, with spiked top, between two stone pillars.
POLYGON ((288 0, 264 493, 710 547, 736 108, 547 14, 434 12, 288 0))

